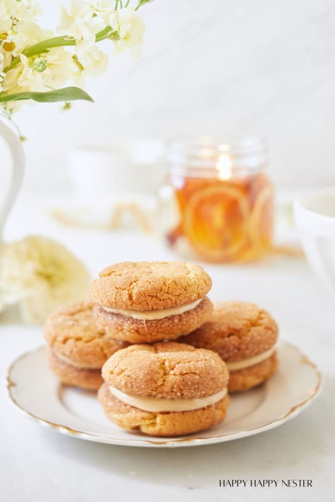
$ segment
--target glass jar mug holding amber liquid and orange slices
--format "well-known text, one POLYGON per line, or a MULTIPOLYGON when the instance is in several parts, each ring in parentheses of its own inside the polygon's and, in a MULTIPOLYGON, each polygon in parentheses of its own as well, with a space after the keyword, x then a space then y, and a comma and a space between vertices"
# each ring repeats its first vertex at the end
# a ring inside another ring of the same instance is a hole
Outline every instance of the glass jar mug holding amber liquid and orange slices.
POLYGON ((160 190, 165 236, 188 258, 254 260, 272 242, 273 187, 262 140, 212 137, 172 143, 160 190))

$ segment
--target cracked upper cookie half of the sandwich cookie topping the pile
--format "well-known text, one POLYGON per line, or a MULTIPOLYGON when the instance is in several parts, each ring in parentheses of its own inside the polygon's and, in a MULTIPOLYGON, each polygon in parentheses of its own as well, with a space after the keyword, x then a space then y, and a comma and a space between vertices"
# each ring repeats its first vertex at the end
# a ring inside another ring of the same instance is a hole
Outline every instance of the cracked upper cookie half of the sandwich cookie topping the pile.
POLYGON ((91 298, 104 307, 159 310, 199 300, 211 279, 198 265, 185 262, 123 262, 102 270, 91 298))

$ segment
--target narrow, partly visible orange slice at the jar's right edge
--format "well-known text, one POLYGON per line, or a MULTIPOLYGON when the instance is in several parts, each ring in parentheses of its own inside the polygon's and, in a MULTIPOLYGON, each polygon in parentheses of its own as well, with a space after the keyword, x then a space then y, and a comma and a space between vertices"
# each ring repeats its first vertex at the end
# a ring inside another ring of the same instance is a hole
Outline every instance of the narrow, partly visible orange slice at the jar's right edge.
POLYGON ((271 247, 272 230, 273 188, 266 186, 257 195, 249 220, 250 241, 257 254, 271 247))

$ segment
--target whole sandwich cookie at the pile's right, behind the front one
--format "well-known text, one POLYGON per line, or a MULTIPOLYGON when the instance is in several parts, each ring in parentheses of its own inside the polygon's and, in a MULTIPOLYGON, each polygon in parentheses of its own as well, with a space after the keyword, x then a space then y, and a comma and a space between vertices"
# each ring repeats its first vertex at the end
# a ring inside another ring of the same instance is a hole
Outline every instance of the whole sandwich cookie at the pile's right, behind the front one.
POLYGON ((214 303, 210 320, 178 341, 214 350, 230 371, 229 391, 267 380, 277 369, 278 327, 268 312, 245 302, 214 303))

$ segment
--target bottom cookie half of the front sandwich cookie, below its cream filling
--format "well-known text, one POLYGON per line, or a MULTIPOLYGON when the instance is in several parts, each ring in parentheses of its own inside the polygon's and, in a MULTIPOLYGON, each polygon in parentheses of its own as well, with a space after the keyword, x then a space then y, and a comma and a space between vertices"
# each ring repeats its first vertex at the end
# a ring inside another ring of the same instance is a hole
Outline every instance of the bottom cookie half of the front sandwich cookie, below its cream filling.
POLYGON ((212 406, 184 412, 152 413, 127 405, 113 396, 107 384, 98 391, 98 401, 109 420, 127 430, 139 430, 151 436, 180 436, 202 431, 222 422, 229 396, 212 406))

